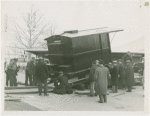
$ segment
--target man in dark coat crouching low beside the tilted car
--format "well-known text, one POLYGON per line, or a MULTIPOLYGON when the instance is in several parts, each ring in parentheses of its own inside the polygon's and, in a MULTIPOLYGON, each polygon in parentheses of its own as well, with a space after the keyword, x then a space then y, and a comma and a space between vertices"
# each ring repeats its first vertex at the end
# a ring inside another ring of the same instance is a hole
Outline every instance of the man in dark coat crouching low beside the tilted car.
POLYGON ((53 90, 54 93, 57 94, 72 94, 73 90, 68 83, 68 78, 63 74, 62 71, 59 72, 58 84, 55 84, 55 88, 53 90))

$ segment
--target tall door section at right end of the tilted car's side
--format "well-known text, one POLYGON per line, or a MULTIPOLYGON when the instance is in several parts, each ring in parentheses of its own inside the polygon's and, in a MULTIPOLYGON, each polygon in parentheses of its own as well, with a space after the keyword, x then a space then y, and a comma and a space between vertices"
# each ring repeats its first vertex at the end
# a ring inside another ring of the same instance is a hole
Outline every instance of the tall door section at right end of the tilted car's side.
POLYGON ((100 43, 102 49, 102 57, 104 63, 111 62, 111 48, 110 48, 110 41, 109 41, 109 33, 102 33, 100 34, 100 43))

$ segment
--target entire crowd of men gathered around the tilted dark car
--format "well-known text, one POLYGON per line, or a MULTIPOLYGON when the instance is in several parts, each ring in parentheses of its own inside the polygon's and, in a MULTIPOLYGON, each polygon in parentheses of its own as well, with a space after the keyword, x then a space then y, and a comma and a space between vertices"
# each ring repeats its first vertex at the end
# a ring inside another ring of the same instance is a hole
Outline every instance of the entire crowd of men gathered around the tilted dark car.
MULTIPOLYGON (((10 80, 10 86, 17 86, 17 59, 11 59, 6 68, 6 85, 10 80)), ((47 94, 47 78, 50 77, 50 71, 43 58, 31 58, 26 66, 25 85, 38 85, 39 95, 42 95, 42 84, 44 84, 44 95, 47 94)), ((109 62, 104 65, 103 60, 95 60, 90 69, 90 95, 99 95, 100 103, 107 102, 108 78, 111 77, 112 93, 117 93, 118 89, 126 89, 132 92, 134 84, 134 71, 132 67, 132 57, 128 52, 123 59, 109 62)), ((68 83, 68 78, 62 71, 58 74, 58 81, 54 83, 55 88, 52 92, 57 94, 71 94, 72 88, 68 83)))

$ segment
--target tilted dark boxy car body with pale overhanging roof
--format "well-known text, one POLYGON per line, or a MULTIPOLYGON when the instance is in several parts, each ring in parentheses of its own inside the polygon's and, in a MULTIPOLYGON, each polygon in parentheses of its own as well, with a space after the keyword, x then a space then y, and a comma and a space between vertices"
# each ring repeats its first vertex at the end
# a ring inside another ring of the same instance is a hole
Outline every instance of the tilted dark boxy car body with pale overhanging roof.
POLYGON ((87 81, 94 60, 111 61, 109 33, 117 31, 122 30, 74 30, 46 38, 49 66, 56 74, 63 71, 72 85, 87 81))

